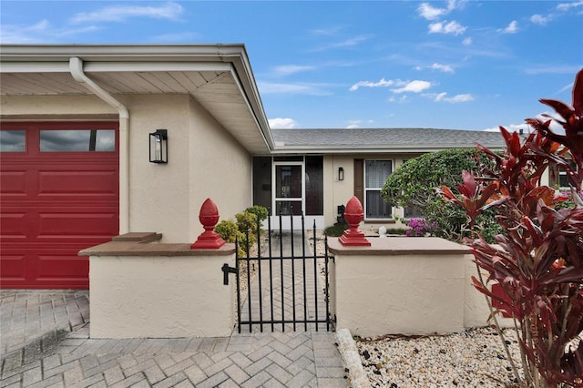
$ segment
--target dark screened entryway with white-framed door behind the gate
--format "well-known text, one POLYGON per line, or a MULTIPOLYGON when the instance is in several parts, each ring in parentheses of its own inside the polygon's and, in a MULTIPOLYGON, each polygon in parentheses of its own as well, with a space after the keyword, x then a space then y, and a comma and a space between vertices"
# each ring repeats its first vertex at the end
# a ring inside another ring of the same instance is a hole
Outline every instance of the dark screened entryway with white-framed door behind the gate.
POLYGON ((270 209, 271 217, 285 218, 285 230, 300 229, 306 222, 323 221, 322 156, 253 158, 253 204, 270 209))

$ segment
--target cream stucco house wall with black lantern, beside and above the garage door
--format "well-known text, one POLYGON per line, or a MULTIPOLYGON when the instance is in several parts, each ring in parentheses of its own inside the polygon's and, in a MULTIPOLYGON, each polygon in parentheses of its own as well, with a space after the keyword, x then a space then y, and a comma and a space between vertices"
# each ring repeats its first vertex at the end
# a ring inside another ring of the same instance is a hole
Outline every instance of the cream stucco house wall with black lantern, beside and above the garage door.
MULTIPOLYGON (((189 95, 116 96, 129 110, 128 231, 156 231, 163 242, 194 241, 204 231, 205 199, 221 220, 251 206, 251 155, 189 95), (168 164, 149 163, 148 134, 168 129, 168 164)), ((3 120, 118 120, 95 96, 2 96, 3 120)), ((120 176, 122 173, 120 171, 120 176)))

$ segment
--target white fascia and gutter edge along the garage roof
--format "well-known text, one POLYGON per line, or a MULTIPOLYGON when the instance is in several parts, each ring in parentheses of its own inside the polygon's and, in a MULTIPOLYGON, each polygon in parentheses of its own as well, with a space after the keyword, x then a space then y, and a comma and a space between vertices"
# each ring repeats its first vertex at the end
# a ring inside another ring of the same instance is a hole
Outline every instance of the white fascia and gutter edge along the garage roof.
POLYGON ((242 44, 231 45, 2 45, 1 73, 68 73, 71 57, 87 73, 107 71, 230 71, 237 80, 268 151, 269 123, 242 44))

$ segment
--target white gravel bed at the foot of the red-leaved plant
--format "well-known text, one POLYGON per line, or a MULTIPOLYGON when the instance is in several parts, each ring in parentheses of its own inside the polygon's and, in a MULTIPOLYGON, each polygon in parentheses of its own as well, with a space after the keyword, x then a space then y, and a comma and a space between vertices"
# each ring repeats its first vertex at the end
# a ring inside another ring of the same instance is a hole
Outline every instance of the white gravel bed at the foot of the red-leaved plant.
MULTIPOLYGON (((504 332, 520 369, 514 331, 504 332)), ((492 328, 450 335, 361 339, 356 348, 373 387, 516 386, 504 346, 492 328)))

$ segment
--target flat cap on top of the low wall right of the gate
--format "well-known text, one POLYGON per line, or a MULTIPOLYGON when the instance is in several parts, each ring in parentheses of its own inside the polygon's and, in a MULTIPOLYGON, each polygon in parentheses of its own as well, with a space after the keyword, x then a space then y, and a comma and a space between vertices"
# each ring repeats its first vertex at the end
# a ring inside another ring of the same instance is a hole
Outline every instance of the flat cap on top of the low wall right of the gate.
POLYGON ((370 247, 349 247, 337 238, 328 239, 332 254, 344 256, 396 256, 396 255, 449 255, 469 254, 465 245, 438 237, 386 237, 369 238, 370 247))

